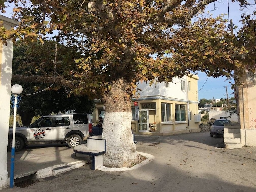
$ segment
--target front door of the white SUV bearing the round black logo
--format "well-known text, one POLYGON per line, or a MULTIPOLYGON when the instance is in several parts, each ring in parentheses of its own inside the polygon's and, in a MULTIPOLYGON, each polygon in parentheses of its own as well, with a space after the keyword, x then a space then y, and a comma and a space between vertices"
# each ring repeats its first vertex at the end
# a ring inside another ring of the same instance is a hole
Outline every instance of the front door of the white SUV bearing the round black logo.
POLYGON ((29 132, 30 142, 47 142, 52 140, 53 117, 43 117, 32 124, 29 132))

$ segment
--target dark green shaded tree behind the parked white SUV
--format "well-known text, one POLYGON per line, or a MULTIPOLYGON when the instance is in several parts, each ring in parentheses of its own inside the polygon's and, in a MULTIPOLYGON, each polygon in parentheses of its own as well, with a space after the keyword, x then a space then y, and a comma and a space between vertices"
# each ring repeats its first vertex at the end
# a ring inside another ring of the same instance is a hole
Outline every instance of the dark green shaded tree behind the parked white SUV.
MULTIPOLYGON (((45 41, 44 44, 37 41, 24 44, 22 41, 17 41, 13 48, 12 72, 14 75, 22 75, 25 78, 42 74, 42 71, 47 71, 50 66, 55 64, 56 53, 58 53, 59 62, 54 67, 55 73, 63 74, 61 70, 69 68, 72 63, 74 67, 74 61, 67 58, 72 55, 72 50, 63 45, 53 41, 45 41)), ((66 110, 91 114, 95 108, 93 100, 89 100, 84 95, 71 95, 69 87, 49 84, 47 81, 40 83, 33 82, 33 80, 31 82, 13 82, 13 84, 16 83, 24 87, 22 92, 24 96, 22 96, 20 107, 17 108, 23 126, 30 125, 35 115, 50 115, 52 112, 65 112, 66 110), (48 89, 45 89, 46 86, 48 89)))

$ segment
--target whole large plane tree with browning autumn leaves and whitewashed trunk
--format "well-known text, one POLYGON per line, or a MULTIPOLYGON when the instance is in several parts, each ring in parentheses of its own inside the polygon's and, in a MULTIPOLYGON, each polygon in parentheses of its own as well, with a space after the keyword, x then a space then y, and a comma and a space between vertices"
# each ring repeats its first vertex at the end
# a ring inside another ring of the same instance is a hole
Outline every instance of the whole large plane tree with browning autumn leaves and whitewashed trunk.
MULTIPOLYGON (((59 81, 69 83, 74 94, 105 103, 103 164, 125 167, 141 158, 131 135, 130 101, 138 82, 171 81, 197 70, 228 78, 234 70, 236 75, 244 72, 248 63, 233 55, 248 50, 236 46, 226 21, 198 17, 216 1, 5 0, 15 3, 20 25, 11 31, 1 28, 0 36, 4 42, 17 37, 29 42, 57 33, 56 40, 78 48, 83 56, 69 69, 72 77, 59 81)), ((53 71, 54 66, 41 78, 55 82, 59 76, 53 71)))

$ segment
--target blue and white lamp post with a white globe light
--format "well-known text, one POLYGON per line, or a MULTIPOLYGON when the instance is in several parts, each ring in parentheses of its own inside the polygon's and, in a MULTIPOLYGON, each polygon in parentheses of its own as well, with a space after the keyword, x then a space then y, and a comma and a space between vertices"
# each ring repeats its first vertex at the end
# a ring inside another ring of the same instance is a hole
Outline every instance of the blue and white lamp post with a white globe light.
POLYGON ((12 107, 14 108, 13 112, 13 140, 12 140, 12 151, 11 151, 11 171, 10 171, 10 188, 13 188, 14 185, 14 157, 15 157, 15 132, 16 132, 16 113, 17 113, 17 105, 21 97, 18 95, 22 93, 23 88, 19 84, 15 84, 12 86, 11 91, 14 95, 11 96, 11 101, 13 102, 12 107))

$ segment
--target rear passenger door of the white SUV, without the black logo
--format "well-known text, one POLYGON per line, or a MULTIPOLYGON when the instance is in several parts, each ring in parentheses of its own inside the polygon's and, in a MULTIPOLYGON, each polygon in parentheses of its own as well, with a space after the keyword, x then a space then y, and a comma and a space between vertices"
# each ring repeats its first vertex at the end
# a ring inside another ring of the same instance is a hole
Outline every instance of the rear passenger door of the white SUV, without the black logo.
POLYGON ((70 122, 71 116, 55 116, 55 121, 52 128, 52 141, 64 140, 66 134, 73 130, 73 125, 70 122))

